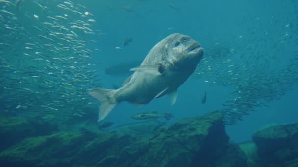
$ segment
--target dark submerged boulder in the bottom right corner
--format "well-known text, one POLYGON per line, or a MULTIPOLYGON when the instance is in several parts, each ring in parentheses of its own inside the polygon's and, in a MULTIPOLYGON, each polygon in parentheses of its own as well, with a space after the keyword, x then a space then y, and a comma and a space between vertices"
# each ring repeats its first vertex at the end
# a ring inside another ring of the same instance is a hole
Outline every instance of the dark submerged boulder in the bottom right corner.
POLYGON ((260 162, 284 167, 298 156, 298 123, 267 125, 252 135, 260 162))

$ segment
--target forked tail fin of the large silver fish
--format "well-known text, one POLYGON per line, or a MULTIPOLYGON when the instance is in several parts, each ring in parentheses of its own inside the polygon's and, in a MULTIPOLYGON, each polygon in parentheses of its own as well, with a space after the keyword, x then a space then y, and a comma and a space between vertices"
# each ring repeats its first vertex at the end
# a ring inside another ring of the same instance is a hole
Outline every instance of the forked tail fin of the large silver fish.
POLYGON ((88 94, 100 103, 98 122, 103 120, 110 111, 119 103, 114 96, 115 90, 94 88, 88 94))

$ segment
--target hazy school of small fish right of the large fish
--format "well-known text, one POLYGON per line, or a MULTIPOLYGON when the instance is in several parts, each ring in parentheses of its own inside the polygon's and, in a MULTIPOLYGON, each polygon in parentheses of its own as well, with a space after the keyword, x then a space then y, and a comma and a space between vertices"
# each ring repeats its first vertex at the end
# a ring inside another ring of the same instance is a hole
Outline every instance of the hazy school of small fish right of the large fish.
POLYGON ((205 44, 193 77, 233 89, 223 103, 227 125, 280 100, 298 84, 298 5, 292 3, 278 11, 283 21, 251 18, 244 23, 245 34, 230 35, 234 43, 215 42, 209 49, 205 44))

